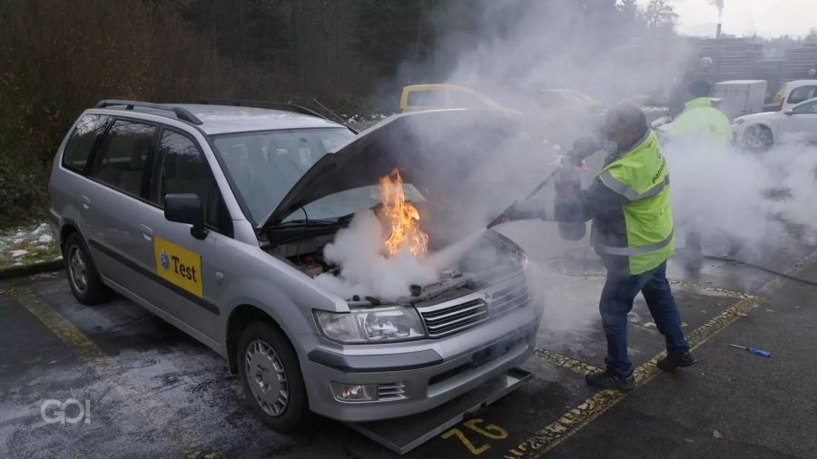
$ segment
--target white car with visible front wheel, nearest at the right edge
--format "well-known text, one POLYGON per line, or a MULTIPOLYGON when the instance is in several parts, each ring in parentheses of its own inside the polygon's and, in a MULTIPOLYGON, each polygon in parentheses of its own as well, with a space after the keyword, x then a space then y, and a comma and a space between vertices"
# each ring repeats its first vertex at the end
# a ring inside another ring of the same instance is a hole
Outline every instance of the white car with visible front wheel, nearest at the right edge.
POLYGON ((817 142, 817 97, 782 112, 739 116, 732 124, 735 142, 764 151, 781 141, 817 142))

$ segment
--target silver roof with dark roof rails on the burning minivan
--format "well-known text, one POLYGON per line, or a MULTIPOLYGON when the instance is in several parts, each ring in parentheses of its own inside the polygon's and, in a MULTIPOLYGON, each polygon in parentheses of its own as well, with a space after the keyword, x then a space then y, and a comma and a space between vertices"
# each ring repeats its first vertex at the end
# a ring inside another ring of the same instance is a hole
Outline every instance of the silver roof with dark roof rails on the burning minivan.
POLYGON ((137 105, 131 110, 126 110, 124 105, 112 105, 103 110, 123 113, 143 112, 176 119, 178 114, 169 109, 177 107, 198 118, 201 124, 195 123, 197 127, 211 135, 281 129, 345 128, 342 124, 318 116, 285 110, 204 103, 173 103, 167 104, 166 107, 168 110, 137 105))

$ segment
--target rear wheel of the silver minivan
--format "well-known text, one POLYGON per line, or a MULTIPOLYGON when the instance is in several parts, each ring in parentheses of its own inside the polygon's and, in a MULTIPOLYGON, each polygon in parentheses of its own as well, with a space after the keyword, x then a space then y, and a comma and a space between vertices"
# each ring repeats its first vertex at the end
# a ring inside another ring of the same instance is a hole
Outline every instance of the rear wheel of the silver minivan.
POLYGON ((91 252, 78 233, 72 233, 65 239, 63 259, 68 286, 77 301, 90 306, 110 298, 111 289, 103 283, 91 252))

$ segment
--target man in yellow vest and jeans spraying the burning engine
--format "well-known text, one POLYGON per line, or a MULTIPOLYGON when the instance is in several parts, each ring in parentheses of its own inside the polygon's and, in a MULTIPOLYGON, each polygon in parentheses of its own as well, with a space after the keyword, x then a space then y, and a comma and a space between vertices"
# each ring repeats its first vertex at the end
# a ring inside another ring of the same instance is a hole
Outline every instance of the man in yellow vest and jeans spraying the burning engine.
MULTIPOLYGON (((540 206, 521 204, 507 212, 510 220, 584 222, 593 220, 591 243, 607 270, 599 310, 607 340, 606 369, 586 376, 603 388, 635 388, 627 355, 627 314, 641 292, 655 325, 665 338, 665 371, 691 366, 696 360, 681 331, 681 316, 666 279, 666 260, 674 252, 669 171, 655 132, 633 103, 617 103, 607 114, 603 144, 609 155, 604 169, 586 190, 560 199, 553 215, 540 206), (553 217, 553 218, 548 218, 553 217)), ((576 148, 574 148, 576 150, 576 148)))

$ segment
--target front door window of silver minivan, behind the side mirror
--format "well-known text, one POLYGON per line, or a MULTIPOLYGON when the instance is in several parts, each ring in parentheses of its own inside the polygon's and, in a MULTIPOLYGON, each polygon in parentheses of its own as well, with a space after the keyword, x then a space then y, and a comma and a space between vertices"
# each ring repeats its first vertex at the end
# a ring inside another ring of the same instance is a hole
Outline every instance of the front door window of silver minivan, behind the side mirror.
POLYGON ((202 200, 205 222, 218 227, 219 189, 212 178, 210 166, 196 144, 178 132, 164 131, 159 140, 159 151, 162 165, 159 190, 154 200, 163 208, 167 194, 195 193, 202 200))

